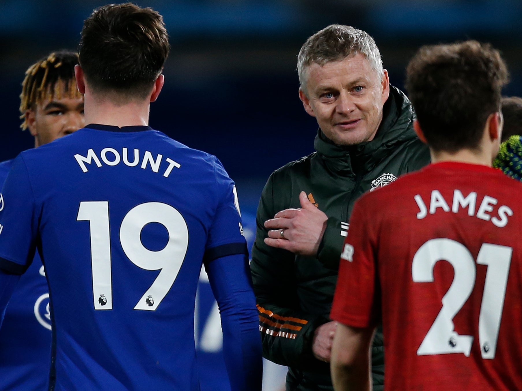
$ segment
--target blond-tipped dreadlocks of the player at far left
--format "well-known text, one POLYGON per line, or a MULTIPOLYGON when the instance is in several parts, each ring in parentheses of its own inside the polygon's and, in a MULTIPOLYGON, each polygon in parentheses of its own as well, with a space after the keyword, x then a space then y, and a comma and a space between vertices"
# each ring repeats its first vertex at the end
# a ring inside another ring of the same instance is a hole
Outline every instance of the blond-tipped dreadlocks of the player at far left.
POLYGON ((52 99, 81 97, 76 88, 74 66, 78 64, 78 54, 75 52, 53 52, 40 59, 26 70, 20 94, 20 125, 27 129, 26 112, 35 104, 52 99))

